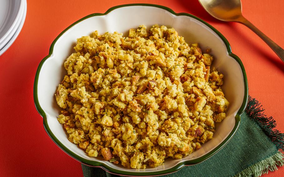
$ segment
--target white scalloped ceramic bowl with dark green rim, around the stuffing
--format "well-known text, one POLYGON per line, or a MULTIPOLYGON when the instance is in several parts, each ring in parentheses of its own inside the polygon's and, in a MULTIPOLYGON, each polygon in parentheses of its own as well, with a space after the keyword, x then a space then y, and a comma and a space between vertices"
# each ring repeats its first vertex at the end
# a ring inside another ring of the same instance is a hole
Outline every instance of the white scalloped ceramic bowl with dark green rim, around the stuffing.
POLYGON ((83 164, 99 166, 104 170, 120 175, 163 175, 175 172, 185 165, 200 163, 219 151, 233 137, 240 124, 240 114, 247 104, 247 77, 241 60, 232 53, 225 37, 208 23, 188 13, 175 13, 173 10, 151 4, 127 4, 110 8, 104 14, 94 13, 73 23, 62 31, 52 42, 49 55, 39 64, 35 83, 34 101, 37 111, 43 117, 47 134, 63 151, 83 164), (56 104, 55 91, 66 74, 64 60, 74 50, 76 39, 98 30, 100 34, 119 31, 127 34, 130 28, 144 24, 148 28, 154 24, 174 27, 188 43, 199 43, 202 50, 212 49, 213 66, 224 74, 222 87, 230 102, 227 117, 216 124, 213 139, 199 150, 182 159, 165 160, 156 168, 145 170, 128 169, 115 165, 102 157, 89 157, 85 151, 68 141, 65 130, 57 121, 60 108, 56 104))

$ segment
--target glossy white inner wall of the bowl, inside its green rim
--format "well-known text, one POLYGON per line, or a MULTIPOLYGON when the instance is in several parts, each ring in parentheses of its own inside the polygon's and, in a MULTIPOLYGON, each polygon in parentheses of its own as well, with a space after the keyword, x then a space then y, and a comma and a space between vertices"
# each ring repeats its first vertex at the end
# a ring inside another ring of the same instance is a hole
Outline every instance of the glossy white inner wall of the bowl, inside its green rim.
POLYGON ((157 168, 147 168, 140 171, 157 171, 173 167, 179 162, 201 157, 217 147, 230 134, 235 126, 235 115, 242 105, 244 98, 244 81, 240 65, 228 55, 225 43, 208 26, 188 16, 176 16, 167 10, 149 6, 129 6, 117 8, 104 16, 89 17, 68 29, 55 43, 52 55, 44 62, 38 79, 38 99, 40 106, 47 115, 47 124, 56 138, 69 150, 84 159, 100 161, 112 168, 124 171, 137 171, 127 169, 121 165, 115 165, 103 161, 102 157, 89 157, 84 151, 67 139, 67 135, 56 117, 59 115, 59 107, 55 101, 55 91, 61 79, 66 74, 63 67, 64 60, 71 55, 76 39, 90 35, 98 30, 99 33, 123 32, 127 35, 130 28, 136 28, 144 24, 150 28, 154 24, 174 27, 180 36, 184 36, 188 43, 199 43, 202 50, 210 48, 214 56, 213 66, 224 74, 222 87, 225 97, 230 102, 227 117, 216 124, 216 132, 213 139, 206 142, 201 149, 181 160, 168 158, 164 165, 157 168))

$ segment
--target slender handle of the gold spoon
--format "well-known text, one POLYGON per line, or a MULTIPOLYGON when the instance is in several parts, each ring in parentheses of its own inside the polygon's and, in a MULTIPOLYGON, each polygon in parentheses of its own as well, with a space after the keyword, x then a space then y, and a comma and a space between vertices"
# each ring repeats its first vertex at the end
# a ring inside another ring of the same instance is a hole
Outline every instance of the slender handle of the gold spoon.
POLYGON ((284 62, 284 50, 277 45, 275 42, 273 42, 269 37, 267 37, 265 34, 263 34, 257 27, 255 27, 251 22, 249 22, 246 18, 243 17, 242 20, 240 20, 240 23, 244 24, 248 28, 250 28, 253 32, 255 32, 264 42, 269 45, 269 47, 279 56, 279 58, 284 62))

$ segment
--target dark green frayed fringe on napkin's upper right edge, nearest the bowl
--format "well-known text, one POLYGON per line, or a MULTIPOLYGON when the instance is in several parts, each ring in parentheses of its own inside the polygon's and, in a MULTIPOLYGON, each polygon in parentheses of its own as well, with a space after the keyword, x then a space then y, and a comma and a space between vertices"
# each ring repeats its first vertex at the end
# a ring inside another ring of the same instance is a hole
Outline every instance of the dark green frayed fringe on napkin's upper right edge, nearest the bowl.
POLYGON ((258 124, 268 138, 276 145, 277 150, 284 152, 284 133, 276 129, 276 121, 273 117, 266 117, 262 105, 249 96, 246 112, 248 116, 258 124))

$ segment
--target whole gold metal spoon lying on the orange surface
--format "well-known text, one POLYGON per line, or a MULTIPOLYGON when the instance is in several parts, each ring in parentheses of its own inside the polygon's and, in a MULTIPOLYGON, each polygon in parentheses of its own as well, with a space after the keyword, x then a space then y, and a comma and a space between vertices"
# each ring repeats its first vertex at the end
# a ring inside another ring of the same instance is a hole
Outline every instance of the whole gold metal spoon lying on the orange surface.
POLYGON ((225 22, 239 22, 255 32, 284 62, 284 50, 242 16, 241 0, 198 0, 213 17, 225 22))

